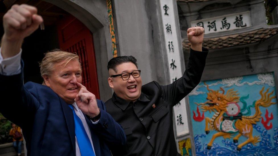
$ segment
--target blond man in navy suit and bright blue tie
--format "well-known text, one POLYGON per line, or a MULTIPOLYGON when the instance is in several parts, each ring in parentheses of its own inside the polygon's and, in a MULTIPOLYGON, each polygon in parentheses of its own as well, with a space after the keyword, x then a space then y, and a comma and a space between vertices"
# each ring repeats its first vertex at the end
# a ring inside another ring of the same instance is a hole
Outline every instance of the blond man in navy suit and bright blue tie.
POLYGON ((44 85, 23 85, 21 45, 43 22, 30 5, 13 5, 4 15, 1 40, 0 112, 19 125, 28 155, 107 156, 126 142, 122 127, 82 84, 77 55, 52 51, 40 64, 44 85))

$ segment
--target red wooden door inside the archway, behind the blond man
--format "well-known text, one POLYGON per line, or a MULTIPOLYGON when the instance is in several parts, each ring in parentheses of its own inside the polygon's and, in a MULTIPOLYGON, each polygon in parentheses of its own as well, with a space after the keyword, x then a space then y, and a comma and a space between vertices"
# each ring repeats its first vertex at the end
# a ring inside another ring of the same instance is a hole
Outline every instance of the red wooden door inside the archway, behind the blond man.
POLYGON ((66 16, 57 24, 60 48, 77 53, 82 66, 82 84, 99 99, 97 65, 91 31, 73 16, 66 16))

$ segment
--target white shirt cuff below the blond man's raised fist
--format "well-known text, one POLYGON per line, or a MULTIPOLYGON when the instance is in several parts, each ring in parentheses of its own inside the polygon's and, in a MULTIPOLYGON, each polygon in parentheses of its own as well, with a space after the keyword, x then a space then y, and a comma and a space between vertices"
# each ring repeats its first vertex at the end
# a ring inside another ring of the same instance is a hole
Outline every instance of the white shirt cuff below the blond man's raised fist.
POLYGON ((11 76, 21 73, 21 53, 22 49, 17 55, 3 59, 0 48, 0 74, 11 76))

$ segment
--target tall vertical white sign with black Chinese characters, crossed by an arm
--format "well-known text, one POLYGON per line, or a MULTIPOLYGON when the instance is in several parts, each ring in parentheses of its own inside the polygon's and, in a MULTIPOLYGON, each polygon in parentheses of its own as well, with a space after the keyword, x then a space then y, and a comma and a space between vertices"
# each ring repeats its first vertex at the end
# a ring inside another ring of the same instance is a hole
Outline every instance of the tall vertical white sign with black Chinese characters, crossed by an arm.
MULTIPOLYGON (((161 15, 165 36, 165 47, 168 58, 169 83, 180 78, 184 71, 181 71, 180 50, 181 43, 178 42, 177 26, 175 21, 174 0, 160 0, 161 15), (179 48, 180 47, 180 48, 179 48)), ((185 99, 182 99, 174 109, 175 127, 177 136, 189 133, 185 99)))

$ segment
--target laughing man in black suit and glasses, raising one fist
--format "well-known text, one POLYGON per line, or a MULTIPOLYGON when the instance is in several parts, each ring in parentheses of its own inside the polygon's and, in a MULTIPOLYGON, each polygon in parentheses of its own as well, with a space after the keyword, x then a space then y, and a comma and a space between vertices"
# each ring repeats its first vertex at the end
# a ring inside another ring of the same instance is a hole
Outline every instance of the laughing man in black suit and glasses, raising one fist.
POLYGON ((183 76, 166 86, 155 81, 142 86, 141 71, 132 56, 109 61, 108 82, 114 94, 105 105, 127 138, 125 146, 112 149, 113 156, 180 155, 173 132, 173 106, 199 84, 208 54, 202 49, 204 28, 189 28, 187 37, 191 42, 189 63, 183 76))

